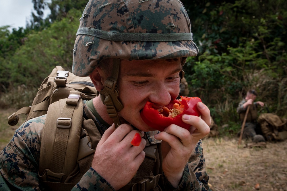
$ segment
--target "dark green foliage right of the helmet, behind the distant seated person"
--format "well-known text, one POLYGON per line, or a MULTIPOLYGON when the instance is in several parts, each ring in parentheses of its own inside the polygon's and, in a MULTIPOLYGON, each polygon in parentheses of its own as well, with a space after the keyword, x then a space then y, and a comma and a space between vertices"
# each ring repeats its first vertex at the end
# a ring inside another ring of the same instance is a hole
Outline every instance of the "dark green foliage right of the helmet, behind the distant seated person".
MULTIPOLYGON (((216 124, 238 120, 248 89, 270 112, 286 116, 286 20, 283 1, 184 1, 199 55, 185 65, 192 96, 211 110, 216 124), (284 104, 282 104, 284 103, 284 104)), ((266 112, 265 108, 261 112, 266 112)))

